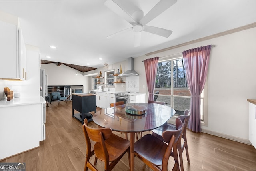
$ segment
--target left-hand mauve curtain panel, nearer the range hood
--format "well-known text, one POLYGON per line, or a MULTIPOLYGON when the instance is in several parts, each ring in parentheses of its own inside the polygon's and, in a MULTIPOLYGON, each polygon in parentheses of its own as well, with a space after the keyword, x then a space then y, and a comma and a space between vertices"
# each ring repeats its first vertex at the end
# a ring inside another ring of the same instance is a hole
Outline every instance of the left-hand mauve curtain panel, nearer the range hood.
POLYGON ((144 60, 146 80, 148 86, 148 100, 154 101, 154 90, 156 83, 156 72, 159 57, 144 60))

